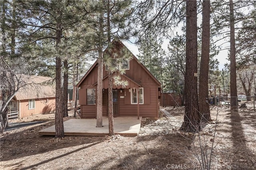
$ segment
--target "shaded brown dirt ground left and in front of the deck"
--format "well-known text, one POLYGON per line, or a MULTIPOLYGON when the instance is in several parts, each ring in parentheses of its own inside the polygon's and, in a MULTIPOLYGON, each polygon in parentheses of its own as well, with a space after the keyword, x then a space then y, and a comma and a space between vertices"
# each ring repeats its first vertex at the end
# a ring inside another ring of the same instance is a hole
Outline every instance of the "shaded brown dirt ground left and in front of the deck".
POLYGON ((22 127, 1 135, 1 161, 36 155, 52 150, 102 141, 105 137, 65 136, 63 140, 55 141, 54 136, 41 136, 38 131, 54 125, 54 121, 22 127), (75 140, 75 142, 72 141, 75 140), (58 145, 56 145, 58 144, 58 145))

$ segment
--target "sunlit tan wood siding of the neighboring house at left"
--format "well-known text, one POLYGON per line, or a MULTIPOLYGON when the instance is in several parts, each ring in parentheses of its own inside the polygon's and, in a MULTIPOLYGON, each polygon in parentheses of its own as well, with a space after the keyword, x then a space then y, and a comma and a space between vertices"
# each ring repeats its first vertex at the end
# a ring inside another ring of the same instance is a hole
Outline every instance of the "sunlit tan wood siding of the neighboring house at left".
POLYGON ((28 109, 28 100, 20 100, 19 111, 19 118, 55 111, 55 98, 35 99, 34 109, 28 109))

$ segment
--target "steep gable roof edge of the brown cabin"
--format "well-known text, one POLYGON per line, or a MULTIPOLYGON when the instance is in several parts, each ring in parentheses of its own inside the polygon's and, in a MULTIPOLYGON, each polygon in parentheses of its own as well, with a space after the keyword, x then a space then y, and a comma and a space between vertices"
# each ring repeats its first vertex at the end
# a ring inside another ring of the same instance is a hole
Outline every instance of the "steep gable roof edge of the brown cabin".
MULTIPOLYGON (((118 43, 120 43, 120 45, 122 46, 122 47, 125 47, 131 54, 132 54, 132 58, 138 63, 138 64, 140 64, 140 66, 150 75, 150 77, 156 82, 156 84, 158 84, 158 86, 160 87, 161 86, 161 83, 155 78, 155 76, 142 64, 142 63, 140 63, 140 61, 138 61, 138 59, 137 59, 137 57, 135 57, 135 55, 124 45, 124 43, 122 43, 122 41, 120 41, 120 40, 118 40, 118 39, 116 39, 116 40, 113 40, 111 43, 113 44, 113 43, 116 43, 116 42, 118 42, 118 43)), ((106 49, 104 50, 104 52, 106 51, 106 49)), ((103 53, 104 53, 103 52, 103 53)), ((88 76, 88 74, 90 74, 90 72, 93 70, 93 68, 98 64, 97 63, 97 61, 98 60, 96 60, 95 62, 94 62, 94 64, 92 64, 92 66, 90 67, 90 69, 86 72, 86 74, 81 78, 81 80, 78 82, 78 84, 76 85, 77 87, 79 87, 80 86, 80 84, 84 81, 84 79, 88 76)), ((126 76, 126 78, 127 78, 128 76, 126 76)), ((131 79, 131 78, 129 78, 129 79, 131 79)), ((137 82, 136 82, 137 83, 137 82)))

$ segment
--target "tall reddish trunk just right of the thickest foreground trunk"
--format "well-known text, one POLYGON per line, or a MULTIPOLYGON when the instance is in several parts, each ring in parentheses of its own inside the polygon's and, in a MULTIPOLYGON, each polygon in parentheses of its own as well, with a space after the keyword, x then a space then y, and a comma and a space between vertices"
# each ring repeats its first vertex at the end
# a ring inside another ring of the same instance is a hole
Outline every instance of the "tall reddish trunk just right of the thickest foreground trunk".
POLYGON ((201 121, 212 121, 208 104, 208 73, 210 57, 210 0, 203 0, 202 19, 202 56, 199 74, 199 112, 201 121))

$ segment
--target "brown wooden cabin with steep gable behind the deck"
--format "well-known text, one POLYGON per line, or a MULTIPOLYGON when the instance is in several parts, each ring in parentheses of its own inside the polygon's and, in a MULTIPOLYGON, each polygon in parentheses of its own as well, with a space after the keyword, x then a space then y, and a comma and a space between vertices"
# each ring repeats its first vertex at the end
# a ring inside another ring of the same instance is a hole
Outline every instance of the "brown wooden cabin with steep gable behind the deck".
MULTIPOLYGON (((112 41, 115 53, 115 59, 122 59, 120 50, 128 49, 121 41, 112 41), (119 52, 118 52, 119 51, 119 52)), ((104 51, 106 53, 106 50, 104 51)), ((112 52, 111 52, 112 53, 112 52)), ((117 116, 142 116, 142 117, 158 117, 160 98, 160 82, 149 72, 149 70, 141 64, 138 59, 130 52, 131 59, 124 64, 125 74, 121 75, 122 80, 128 82, 128 86, 122 88, 113 84, 113 112, 114 117, 117 116), (138 92, 138 94, 137 94, 138 92), (137 98, 139 96, 139 99, 137 98), (139 100, 139 104, 137 103, 139 100)), ((113 58, 113 57, 112 57, 113 58)), ((114 58, 113 58, 114 59, 114 58)), ((78 82, 79 88, 79 104, 81 106, 81 118, 96 118, 96 102, 97 102, 97 61, 86 72, 83 78, 78 82)), ((116 73, 114 73, 116 74, 116 73)), ((102 115, 107 116, 108 113, 108 71, 103 66, 103 89, 102 89, 102 115)))

